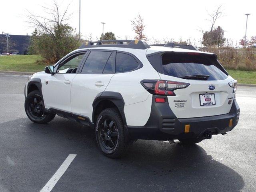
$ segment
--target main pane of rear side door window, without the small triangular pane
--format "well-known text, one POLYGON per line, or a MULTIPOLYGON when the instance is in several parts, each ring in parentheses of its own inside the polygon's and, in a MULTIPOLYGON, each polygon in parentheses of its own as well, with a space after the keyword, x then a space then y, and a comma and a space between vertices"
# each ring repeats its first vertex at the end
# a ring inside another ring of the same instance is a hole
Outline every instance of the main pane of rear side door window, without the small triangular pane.
POLYGON ((108 51, 91 51, 90 55, 84 63, 82 73, 85 74, 101 74, 104 66, 110 58, 112 52, 108 51))

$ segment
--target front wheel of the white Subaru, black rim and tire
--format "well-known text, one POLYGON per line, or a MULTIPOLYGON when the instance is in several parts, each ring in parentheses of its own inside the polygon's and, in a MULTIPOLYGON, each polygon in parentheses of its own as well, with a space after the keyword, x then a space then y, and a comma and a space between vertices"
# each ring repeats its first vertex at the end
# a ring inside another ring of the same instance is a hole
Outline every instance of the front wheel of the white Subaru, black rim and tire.
POLYGON ((28 118, 34 123, 48 123, 54 119, 55 114, 43 113, 42 96, 38 90, 32 91, 25 99, 25 112, 28 118))

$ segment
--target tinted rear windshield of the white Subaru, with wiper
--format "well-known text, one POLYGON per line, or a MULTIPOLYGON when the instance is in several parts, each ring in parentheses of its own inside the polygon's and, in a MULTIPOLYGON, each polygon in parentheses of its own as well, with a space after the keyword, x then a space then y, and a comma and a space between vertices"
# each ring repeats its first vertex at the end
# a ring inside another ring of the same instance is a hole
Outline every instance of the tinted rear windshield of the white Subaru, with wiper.
MULTIPOLYGON (((160 71, 158 71, 160 72, 160 71)), ((205 75, 207 80, 224 80, 228 77, 215 56, 200 53, 166 52, 162 55, 163 74, 184 77, 205 75)))

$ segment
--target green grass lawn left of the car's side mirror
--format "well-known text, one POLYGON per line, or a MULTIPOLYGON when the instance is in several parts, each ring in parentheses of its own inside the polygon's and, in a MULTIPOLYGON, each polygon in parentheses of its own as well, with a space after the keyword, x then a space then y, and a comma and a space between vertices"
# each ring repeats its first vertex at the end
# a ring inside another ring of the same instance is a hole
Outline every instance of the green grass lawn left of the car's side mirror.
POLYGON ((43 71, 45 66, 40 55, 0 56, 2 71, 38 72, 43 71))

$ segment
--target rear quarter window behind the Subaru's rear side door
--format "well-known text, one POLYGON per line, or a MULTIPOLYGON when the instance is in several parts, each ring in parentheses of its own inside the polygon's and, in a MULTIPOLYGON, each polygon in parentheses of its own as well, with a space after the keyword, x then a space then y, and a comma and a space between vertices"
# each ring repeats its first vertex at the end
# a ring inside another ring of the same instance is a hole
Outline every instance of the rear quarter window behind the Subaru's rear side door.
POLYGON ((116 53, 116 73, 132 71, 138 67, 138 62, 132 56, 125 53, 116 53))

